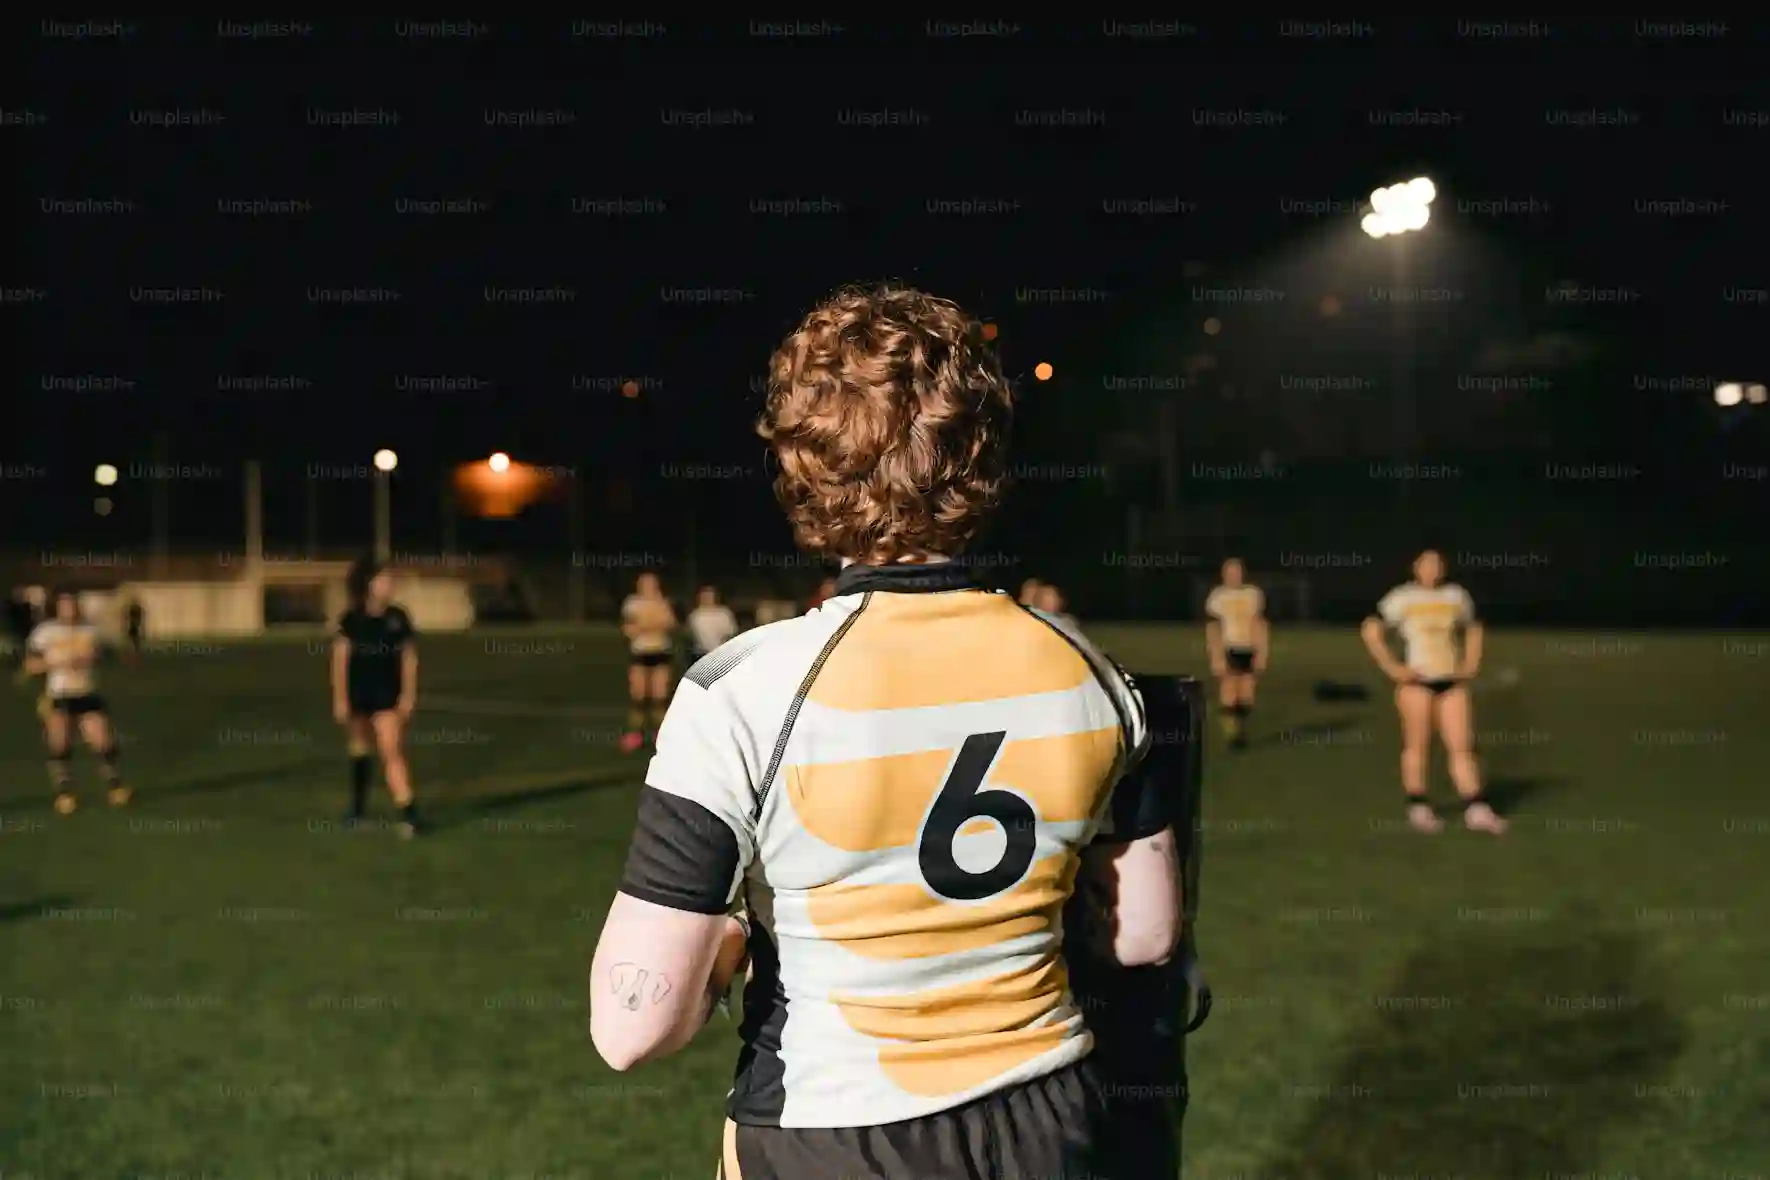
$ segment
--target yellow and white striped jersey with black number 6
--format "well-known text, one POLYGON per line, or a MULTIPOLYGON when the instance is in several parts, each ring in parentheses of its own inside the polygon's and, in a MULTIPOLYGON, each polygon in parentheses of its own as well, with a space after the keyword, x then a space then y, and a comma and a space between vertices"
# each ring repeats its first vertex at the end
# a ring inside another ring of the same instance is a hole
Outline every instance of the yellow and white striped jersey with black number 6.
POLYGON ((621 890, 749 908, 731 1118, 890 1123, 1087 1056, 1062 909, 1083 846, 1152 833, 1112 830, 1147 739, 1112 660, 950 564, 850 566, 701 660, 621 890))

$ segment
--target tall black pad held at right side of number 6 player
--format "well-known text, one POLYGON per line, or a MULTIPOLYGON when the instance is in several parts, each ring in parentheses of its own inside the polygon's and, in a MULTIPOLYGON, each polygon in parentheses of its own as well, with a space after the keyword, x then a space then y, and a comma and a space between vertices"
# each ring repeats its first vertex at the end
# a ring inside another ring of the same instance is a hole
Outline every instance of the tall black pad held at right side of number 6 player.
MULTIPOLYGON (((1181 849, 1186 925, 1168 962, 1122 968, 1110 946, 1110 918, 1080 888, 1064 918, 1064 959, 1076 1003, 1094 1030, 1094 1061, 1112 1109, 1117 1159, 1113 1180, 1172 1180, 1181 1175, 1181 1120, 1186 1115, 1186 1035, 1211 1012, 1211 991, 1198 973, 1193 922, 1198 916, 1198 787, 1202 780, 1204 695, 1182 676, 1133 676, 1149 718, 1149 754, 1133 771, 1161 782, 1161 791, 1124 798, 1158 808, 1181 849)), ((1143 830, 1149 816, 1115 816, 1143 830)))

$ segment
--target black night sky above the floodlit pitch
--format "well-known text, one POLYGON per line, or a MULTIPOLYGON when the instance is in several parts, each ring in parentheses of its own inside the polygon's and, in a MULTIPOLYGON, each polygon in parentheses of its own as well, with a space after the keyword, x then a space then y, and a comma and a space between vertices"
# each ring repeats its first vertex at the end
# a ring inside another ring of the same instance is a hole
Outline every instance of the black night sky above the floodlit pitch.
MULTIPOLYGON (((1467 292, 1421 310, 1421 338, 1464 354, 1423 379, 1574 333, 1604 361, 1543 407, 1552 442, 1575 442, 1584 414, 1609 423, 1612 455, 1641 458, 1673 419, 1713 433, 1715 412, 1635 379, 1770 368, 1770 308, 1724 297, 1770 287, 1770 25, 1492 35, 1446 18, 1281 35, 1273 19, 1133 37, 1106 23, 777 37, 664 21, 611 37, 531 19, 402 37, 393 21, 317 21, 221 37, 191 19, 71 37, 16 21, 35 67, 4 99, 19 412, 0 511, 37 533, 90 527, 92 464, 145 462, 154 432, 181 464, 260 456, 273 488, 377 446, 414 481, 494 448, 596 476, 759 464, 750 379, 770 347, 832 285, 885 276, 997 318, 1012 372, 1057 364, 1028 400, 1027 446, 1089 462, 1122 426, 1099 405, 1103 375, 1165 372, 1150 357, 1197 350, 1204 315, 1225 320, 1212 349, 1255 398, 1274 372, 1345 352, 1312 315, 1368 287, 1343 251, 1377 244, 1349 205, 1420 172, 1457 249, 1421 249, 1414 280, 1467 292), (398 122, 313 126, 319 111, 398 122), (67 203, 94 200, 113 203, 67 203), (1287 301, 1195 306, 1188 264, 1209 287, 1287 301), (1632 294, 1551 306, 1556 281, 1632 294), (186 294, 152 304, 140 288, 186 294), (315 306, 320 288, 398 297, 315 306), (44 391, 46 375, 120 387, 44 391), (402 391, 402 375, 483 387, 402 391), (221 377, 287 387, 221 391, 221 377), (621 400, 625 379, 644 396, 621 400)), ((1386 356, 1384 326, 1349 310, 1340 327, 1365 345, 1336 364, 1386 356)), ((232 478, 177 490, 184 527, 232 527, 232 478)))

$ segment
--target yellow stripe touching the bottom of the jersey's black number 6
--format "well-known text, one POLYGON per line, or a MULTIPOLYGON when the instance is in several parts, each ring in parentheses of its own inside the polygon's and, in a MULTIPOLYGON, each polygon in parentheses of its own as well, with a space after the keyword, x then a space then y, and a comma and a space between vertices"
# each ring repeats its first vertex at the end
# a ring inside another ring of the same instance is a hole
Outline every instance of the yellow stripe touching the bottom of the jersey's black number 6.
POLYGON ((805 890, 818 934, 862 959, 931 959, 1060 929, 1081 858, 1035 860, 1020 885, 959 906, 922 885, 825 885, 805 890))

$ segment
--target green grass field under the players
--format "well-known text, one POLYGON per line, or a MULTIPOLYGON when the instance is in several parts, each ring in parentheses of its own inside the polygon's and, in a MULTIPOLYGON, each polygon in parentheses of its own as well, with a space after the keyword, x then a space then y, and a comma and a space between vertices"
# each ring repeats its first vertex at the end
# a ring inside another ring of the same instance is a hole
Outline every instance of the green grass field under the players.
MULTIPOLYGON (((113 670, 126 812, 83 759, 57 817, 0 697, 0 1176, 710 1176, 731 1026, 628 1076, 586 1031, 643 771, 612 628, 425 642, 416 844, 336 830, 319 653, 113 670)), ((1281 635, 1255 748, 1211 750, 1188 1176, 1770 1175, 1770 640, 1499 633, 1487 667, 1499 840, 1404 828, 1386 693, 1312 699, 1374 681, 1351 632, 1281 635)))

